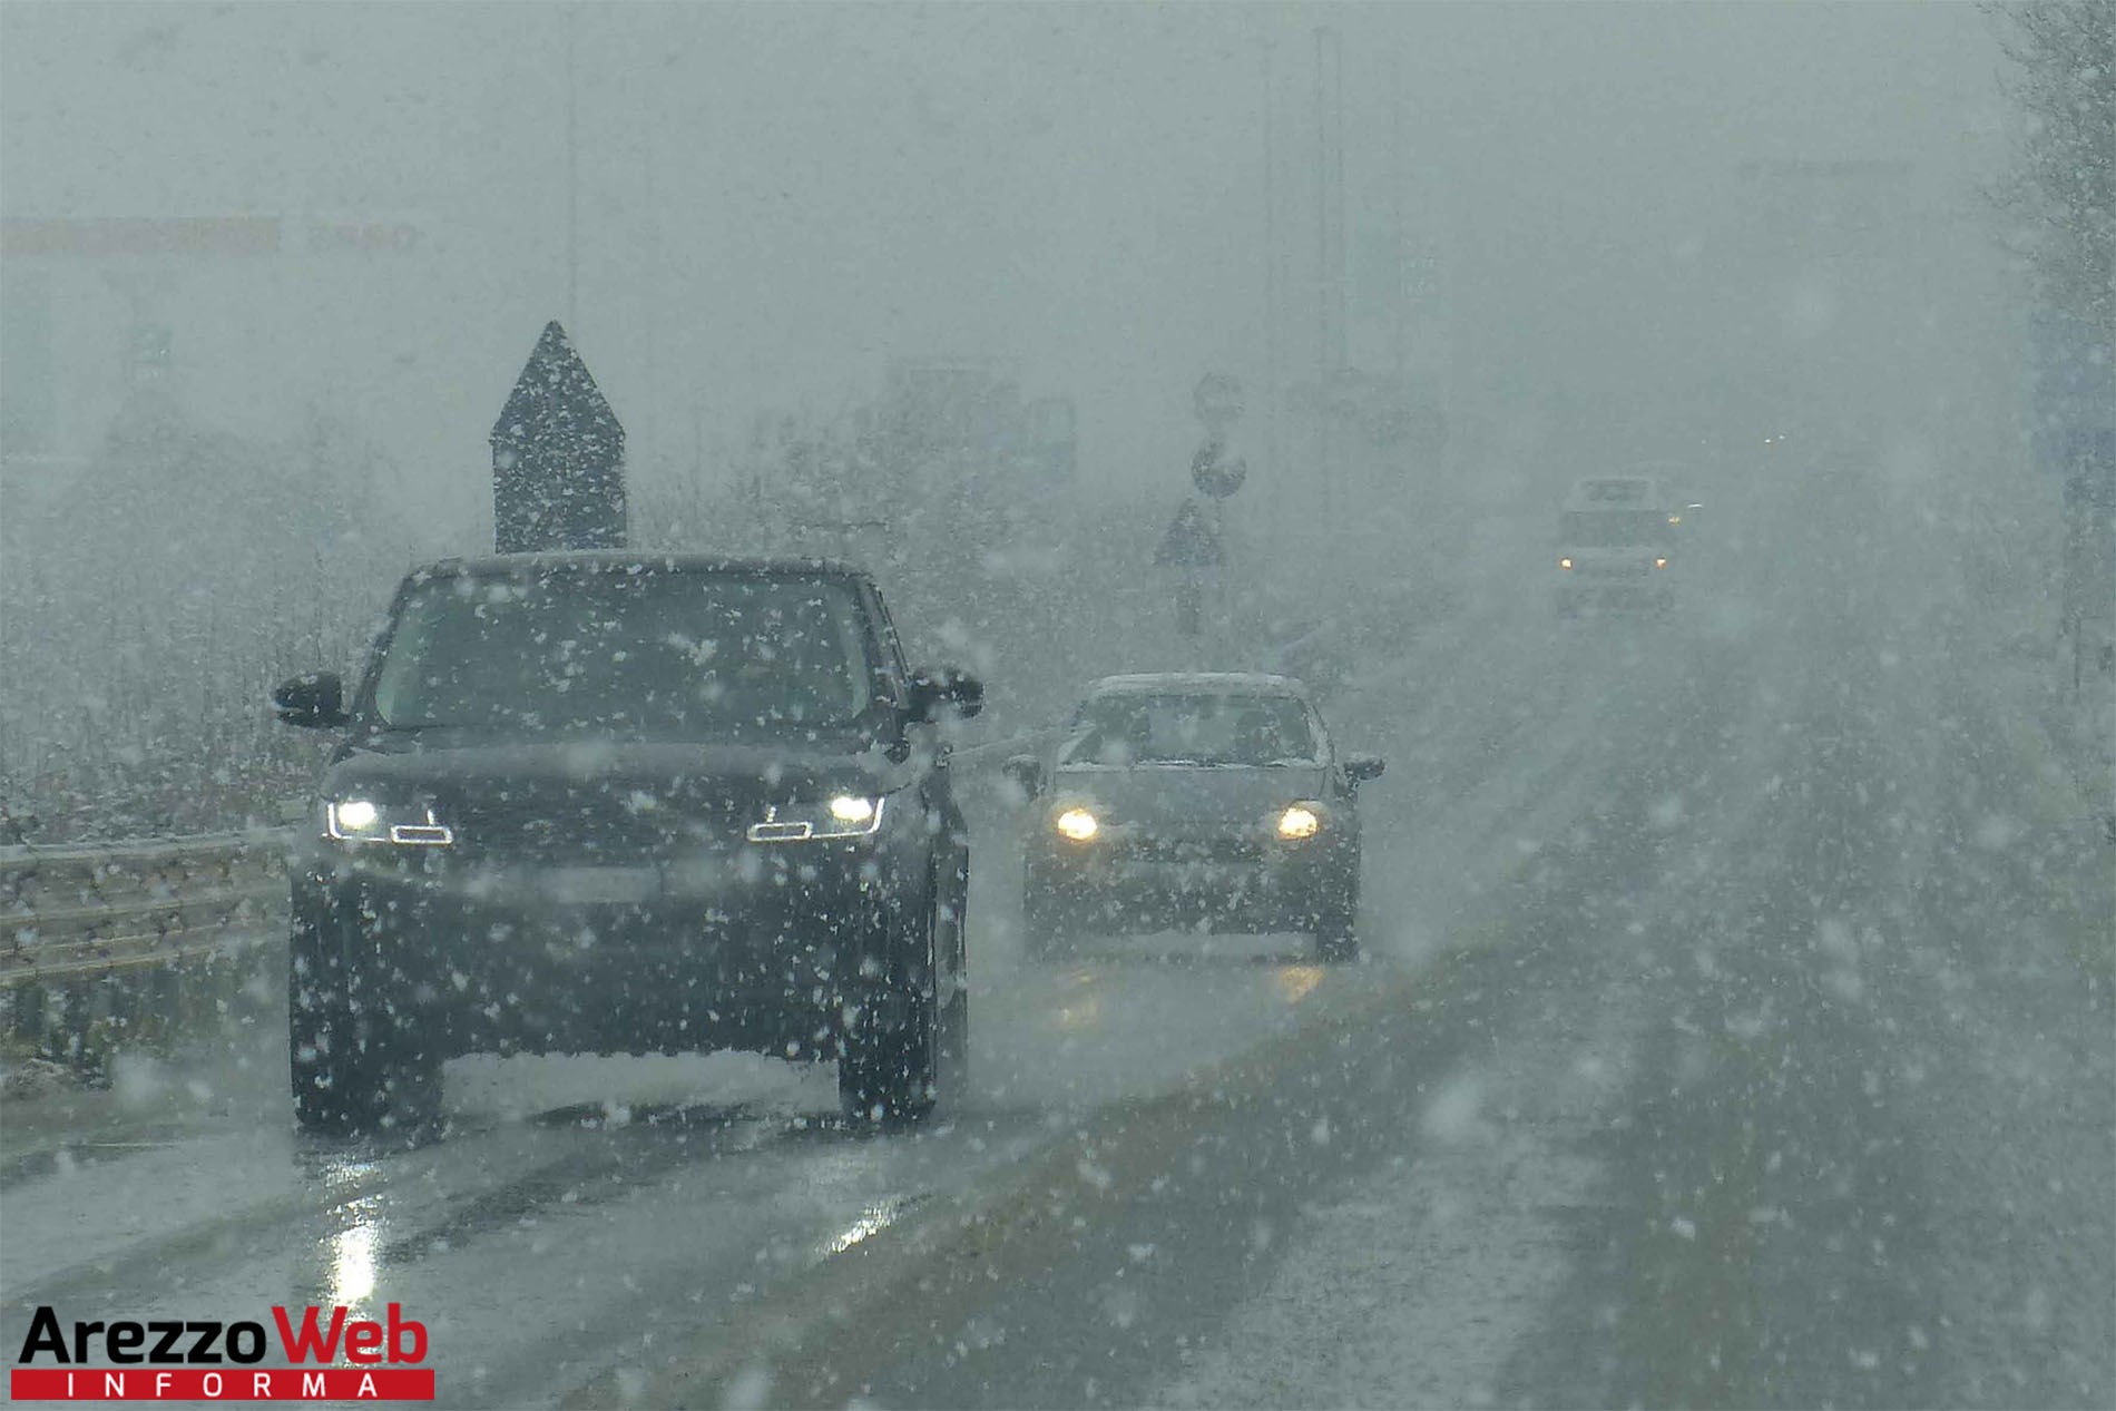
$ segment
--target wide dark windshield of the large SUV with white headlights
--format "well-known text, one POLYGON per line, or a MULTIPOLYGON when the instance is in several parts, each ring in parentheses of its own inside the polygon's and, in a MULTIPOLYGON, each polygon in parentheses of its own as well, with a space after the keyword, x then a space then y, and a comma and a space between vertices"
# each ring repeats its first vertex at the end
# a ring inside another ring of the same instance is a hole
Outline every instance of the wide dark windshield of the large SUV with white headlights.
POLYGON ((868 702, 849 586, 724 573, 434 580, 398 609, 375 681, 389 728, 506 736, 813 730, 868 702))

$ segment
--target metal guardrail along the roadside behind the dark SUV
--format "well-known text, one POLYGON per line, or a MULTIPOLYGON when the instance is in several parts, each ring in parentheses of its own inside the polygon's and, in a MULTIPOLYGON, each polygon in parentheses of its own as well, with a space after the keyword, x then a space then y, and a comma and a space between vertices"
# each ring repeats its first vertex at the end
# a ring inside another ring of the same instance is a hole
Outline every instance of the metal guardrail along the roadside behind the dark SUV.
MULTIPOLYGON (((1037 730, 952 751, 965 774, 1050 743, 1037 730)), ((296 829, 0 848, 0 990, 154 969, 277 933, 296 829)))

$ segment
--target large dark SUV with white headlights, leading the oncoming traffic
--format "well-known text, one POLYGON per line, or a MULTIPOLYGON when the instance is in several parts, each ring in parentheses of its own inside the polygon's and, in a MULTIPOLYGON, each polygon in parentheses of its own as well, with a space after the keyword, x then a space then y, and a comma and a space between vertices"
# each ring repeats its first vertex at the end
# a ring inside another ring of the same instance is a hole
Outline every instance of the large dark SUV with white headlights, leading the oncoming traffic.
POLYGON ((969 846, 874 582, 624 552, 449 561, 398 588, 292 869, 294 1113, 432 1108, 446 1058, 836 1058, 855 1121, 961 1081, 969 846))

